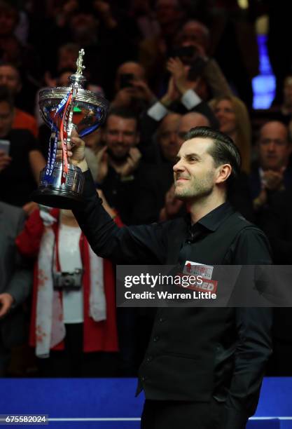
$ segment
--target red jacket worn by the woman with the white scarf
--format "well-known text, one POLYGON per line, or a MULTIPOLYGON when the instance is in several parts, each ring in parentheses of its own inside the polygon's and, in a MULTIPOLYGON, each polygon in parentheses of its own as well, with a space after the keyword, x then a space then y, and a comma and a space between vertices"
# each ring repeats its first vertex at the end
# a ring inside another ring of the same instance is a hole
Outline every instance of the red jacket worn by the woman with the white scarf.
MULTIPOLYGON (((50 214, 59 219, 58 209, 53 209, 50 214)), ((120 223, 120 221, 118 221, 120 223)), ((59 223, 52 225, 53 231, 57 233, 59 223)), ((22 254, 27 257, 36 257, 39 252, 41 236, 43 235, 43 221, 39 215, 39 210, 35 210, 27 219, 25 229, 16 238, 16 244, 22 254)), ((88 241, 83 233, 80 240, 81 259, 84 261, 83 275, 83 301, 84 301, 84 322, 83 322, 83 351, 117 351, 118 334, 116 329, 116 294, 115 276, 113 265, 108 259, 104 261, 104 293, 106 296, 106 320, 95 322, 89 316, 89 296, 90 296, 90 266, 88 241), (84 245, 83 245, 84 242, 84 245)), ((29 335, 29 343, 36 346, 36 299, 38 290, 38 266, 34 266, 34 288, 32 296, 32 318, 29 335)), ((64 350, 64 341, 57 344, 53 350, 64 350)))

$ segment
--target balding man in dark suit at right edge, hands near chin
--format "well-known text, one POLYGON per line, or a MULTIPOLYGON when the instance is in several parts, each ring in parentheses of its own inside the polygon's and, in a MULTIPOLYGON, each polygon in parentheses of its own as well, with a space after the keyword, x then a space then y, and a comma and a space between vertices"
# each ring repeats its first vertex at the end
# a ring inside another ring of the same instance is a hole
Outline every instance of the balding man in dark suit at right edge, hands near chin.
MULTIPOLYGON (((291 150, 284 123, 270 121, 263 125, 258 138, 258 164, 251 172, 251 190, 256 223, 267 234, 274 264, 279 265, 292 264, 292 172, 288 165, 291 150)), ((291 308, 274 309, 274 353, 270 375, 292 375, 291 320, 291 308)))

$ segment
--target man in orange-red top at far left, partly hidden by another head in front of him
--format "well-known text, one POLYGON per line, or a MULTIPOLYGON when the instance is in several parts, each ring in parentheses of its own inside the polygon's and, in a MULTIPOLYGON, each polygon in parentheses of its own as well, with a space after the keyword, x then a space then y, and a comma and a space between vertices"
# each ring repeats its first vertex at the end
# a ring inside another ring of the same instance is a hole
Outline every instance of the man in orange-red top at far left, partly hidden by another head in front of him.
MULTIPOLYGON (((13 97, 16 97, 22 88, 20 79, 20 72, 18 69, 9 63, 0 64, 0 86, 6 86, 13 97)), ((38 125, 34 116, 28 114, 26 111, 14 107, 13 114, 13 129, 23 128, 32 132, 34 137, 38 135, 38 125)))

